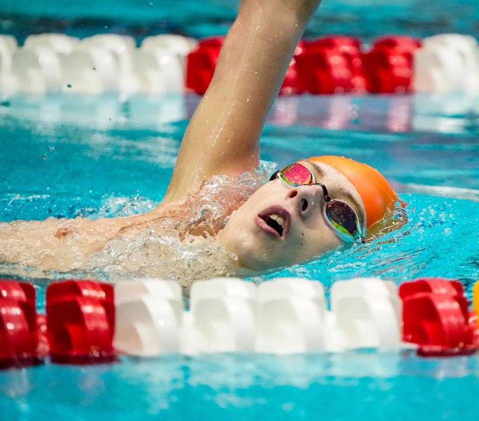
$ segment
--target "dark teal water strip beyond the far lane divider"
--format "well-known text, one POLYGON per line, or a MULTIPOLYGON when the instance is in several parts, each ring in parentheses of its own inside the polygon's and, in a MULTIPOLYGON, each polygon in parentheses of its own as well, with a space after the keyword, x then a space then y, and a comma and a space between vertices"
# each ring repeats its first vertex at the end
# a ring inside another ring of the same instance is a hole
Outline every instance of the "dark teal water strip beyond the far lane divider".
MULTIPOLYGON (((73 36, 126 33, 138 41, 158 33, 226 34, 239 0, 0 0, 0 31, 22 40, 32 32, 73 36)), ((350 34, 366 41, 384 34, 479 36, 476 0, 323 0, 305 35, 350 34), (454 4, 451 6, 451 4, 454 4), (453 7, 453 8, 452 8, 453 7)))

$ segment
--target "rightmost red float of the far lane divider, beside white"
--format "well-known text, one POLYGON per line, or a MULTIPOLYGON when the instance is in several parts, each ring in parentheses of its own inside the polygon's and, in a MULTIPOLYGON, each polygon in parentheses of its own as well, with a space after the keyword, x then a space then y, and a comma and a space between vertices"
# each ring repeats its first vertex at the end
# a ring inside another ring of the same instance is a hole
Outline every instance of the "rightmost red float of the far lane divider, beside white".
POLYGON ((409 36, 377 39, 364 54, 367 89, 372 93, 404 93, 412 90, 413 53, 421 41, 409 36))

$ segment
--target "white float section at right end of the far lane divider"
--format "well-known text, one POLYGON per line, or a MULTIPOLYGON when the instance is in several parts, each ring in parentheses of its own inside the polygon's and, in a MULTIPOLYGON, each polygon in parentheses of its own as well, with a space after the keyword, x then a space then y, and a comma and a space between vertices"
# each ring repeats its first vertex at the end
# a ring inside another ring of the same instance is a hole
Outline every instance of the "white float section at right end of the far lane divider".
POLYGON ((414 55, 416 92, 478 92, 479 46, 469 35, 441 34, 423 39, 414 55))

